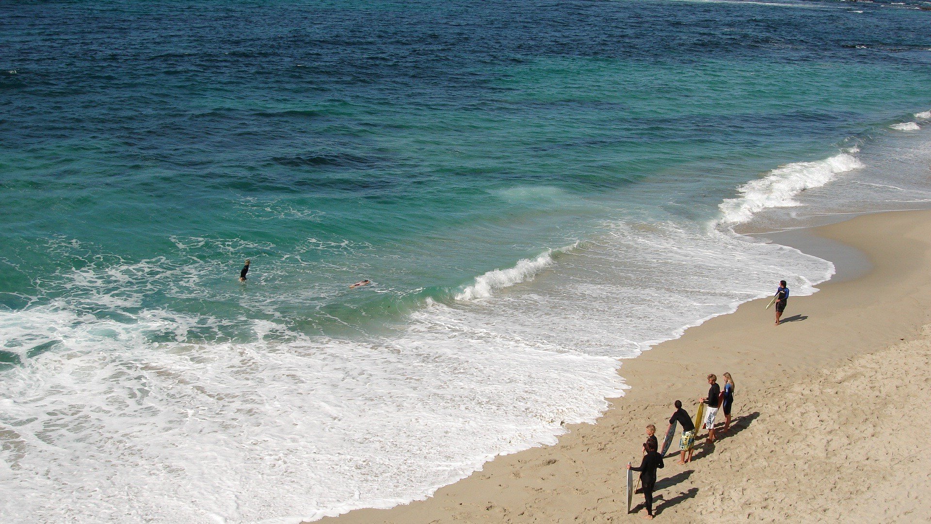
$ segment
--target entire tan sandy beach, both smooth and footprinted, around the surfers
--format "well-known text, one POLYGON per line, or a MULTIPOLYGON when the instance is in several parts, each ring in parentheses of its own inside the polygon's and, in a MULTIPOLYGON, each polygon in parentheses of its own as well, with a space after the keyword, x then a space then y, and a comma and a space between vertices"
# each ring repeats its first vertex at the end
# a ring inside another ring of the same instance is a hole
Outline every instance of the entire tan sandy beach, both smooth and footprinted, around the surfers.
MULTIPOLYGON (((662 438, 673 401, 694 415, 706 375, 725 371, 736 383, 734 425, 713 446, 696 439, 691 463, 668 456, 657 520, 924 519, 931 212, 862 215, 805 234, 856 248, 871 267, 793 296, 780 326, 757 300, 625 360, 627 395, 555 446, 498 457, 425 501, 317 522, 639 521, 626 512, 625 466, 640 462, 644 426, 662 438)), ((634 501, 642 508, 640 494, 634 501)))

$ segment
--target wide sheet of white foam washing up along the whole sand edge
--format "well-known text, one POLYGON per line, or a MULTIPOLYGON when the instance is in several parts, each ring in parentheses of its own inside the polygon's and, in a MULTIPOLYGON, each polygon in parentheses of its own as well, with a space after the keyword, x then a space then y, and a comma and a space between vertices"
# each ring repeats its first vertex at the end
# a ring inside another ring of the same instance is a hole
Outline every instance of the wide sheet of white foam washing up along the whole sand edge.
POLYGON ((142 296, 158 279, 204 278, 197 264, 114 258, 57 275, 43 285, 58 298, 0 312, 0 340, 24 358, 3 372, 0 512, 296 523, 424 498, 495 454, 554 443, 563 422, 594 421, 623 393, 617 358, 787 275, 811 293, 832 269, 699 225, 607 227, 479 277, 482 300, 433 302, 368 341, 283 337, 255 320, 248 343, 185 342, 222 321, 142 296))

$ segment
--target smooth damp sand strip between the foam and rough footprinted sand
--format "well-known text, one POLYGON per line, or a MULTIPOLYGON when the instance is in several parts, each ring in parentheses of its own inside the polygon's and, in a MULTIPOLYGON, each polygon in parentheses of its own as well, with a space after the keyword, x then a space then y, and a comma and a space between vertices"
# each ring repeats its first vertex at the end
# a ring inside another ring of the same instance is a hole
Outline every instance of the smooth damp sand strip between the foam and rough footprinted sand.
MULTIPOLYGON (((730 371, 738 392, 784 389, 825 369, 849 364, 859 355, 912 340, 931 322, 925 312, 931 306, 931 277, 927 276, 931 256, 926 240, 931 238, 931 211, 861 214, 815 228, 756 236, 777 238, 776 243, 801 248, 804 253, 810 253, 810 246, 821 246, 826 251, 814 255, 838 257, 829 258, 838 273, 818 284, 818 293, 790 299, 786 324, 772 324, 772 310, 762 309, 764 299, 741 304, 734 313, 688 328, 681 338, 623 359, 618 373, 631 389, 623 397, 609 399, 611 407, 595 424, 570 426, 556 445, 498 456, 425 500, 390 509, 357 509, 314 522, 555 522, 575 518, 610 522, 634 517, 622 509, 623 466, 639 459, 643 426, 654 423, 661 437, 677 398, 694 414, 695 398, 705 394, 703 388, 707 390, 706 374, 720 377, 730 371), (806 244, 809 251, 804 249, 806 244)), ((741 404, 752 394, 741 398, 744 395, 738 393, 734 417, 755 426, 762 422, 742 418, 761 417, 762 410, 749 413, 751 407, 741 404)), ((722 416, 718 421, 722 422, 722 416)), ((732 435, 738 433, 735 429, 732 435)), ((699 442, 696 439, 696 445, 699 442)), ((684 497, 680 502, 695 500, 670 504, 657 490, 664 520, 695 520, 694 506, 704 503, 703 492, 708 487, 702 487, 693 474, 713 467, 722 455, 717 448, 730 446, 725 440, 709 452, 698 445, 696 461, 686 466, 667 459, 660 478, 681 477, 674 487, 684 497)), ((642 503, 641 495, 634 500, 642 503)))

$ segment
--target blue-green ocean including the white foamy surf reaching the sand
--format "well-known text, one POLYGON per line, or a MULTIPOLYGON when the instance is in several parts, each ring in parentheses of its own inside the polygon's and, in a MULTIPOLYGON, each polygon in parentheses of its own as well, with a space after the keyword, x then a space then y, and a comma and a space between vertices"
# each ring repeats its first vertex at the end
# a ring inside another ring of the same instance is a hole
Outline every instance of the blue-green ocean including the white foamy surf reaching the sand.
POLYGON ((297 523, 595 421, 834 272, 745 233, 931 207, 928 7, 5 3, 0 513, 297 523))

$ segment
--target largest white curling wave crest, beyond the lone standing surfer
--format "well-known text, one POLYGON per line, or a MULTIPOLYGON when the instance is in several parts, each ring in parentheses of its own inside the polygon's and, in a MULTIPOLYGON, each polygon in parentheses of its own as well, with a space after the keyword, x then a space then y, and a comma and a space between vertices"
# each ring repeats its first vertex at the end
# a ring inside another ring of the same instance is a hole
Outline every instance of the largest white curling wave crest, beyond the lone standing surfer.
POLYGON ((797 206, 799 202, 795 196, 805 189, 824 186, 838 173, 861 167, 863 164, 856 157, 842 153, 830 159, 796 162, 776 168, 766 176, 738 187, 739 197, 724 200, 719 206, 720 222, 743 223, 767 208, 797 206))

